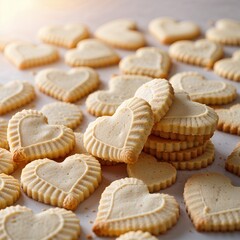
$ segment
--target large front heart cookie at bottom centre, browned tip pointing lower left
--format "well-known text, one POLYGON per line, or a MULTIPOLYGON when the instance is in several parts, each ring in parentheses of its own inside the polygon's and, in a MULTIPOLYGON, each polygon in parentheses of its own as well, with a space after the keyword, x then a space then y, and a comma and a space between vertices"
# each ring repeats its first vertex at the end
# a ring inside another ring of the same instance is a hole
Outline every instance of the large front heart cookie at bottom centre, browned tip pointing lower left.
POLYGON ((174 197, 149 194, 143 181, 125 178, 105 188, 93 231, 99 236, 118 236, 141 229, 157 235, 171 228, 178 217, 179 206, 174 197))

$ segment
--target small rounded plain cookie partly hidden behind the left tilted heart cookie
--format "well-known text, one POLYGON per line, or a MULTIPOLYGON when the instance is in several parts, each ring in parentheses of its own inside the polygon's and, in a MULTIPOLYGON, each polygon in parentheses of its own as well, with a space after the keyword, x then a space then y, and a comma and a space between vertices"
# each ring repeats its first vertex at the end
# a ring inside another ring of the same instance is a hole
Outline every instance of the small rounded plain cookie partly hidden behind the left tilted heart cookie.
POLYGON ((79 106, 71 103, 55 102, 44 105, 40 110, 50 125, 64 125, 74 129, 83 119, 79 106))

